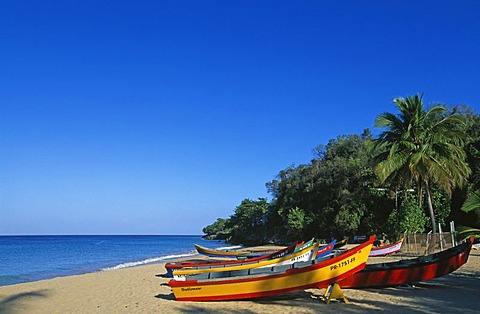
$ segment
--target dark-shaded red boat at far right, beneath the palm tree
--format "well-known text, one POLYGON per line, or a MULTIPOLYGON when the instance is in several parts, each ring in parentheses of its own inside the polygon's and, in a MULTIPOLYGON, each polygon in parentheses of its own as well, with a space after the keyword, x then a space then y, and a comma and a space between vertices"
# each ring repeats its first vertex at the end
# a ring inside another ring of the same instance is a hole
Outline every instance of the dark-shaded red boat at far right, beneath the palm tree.
POLYGON ((345 278, 342 288, 388 287, 431 280, 455 271, 467 262, 473 237, 448 250, 390 263, 367 264, 345 278))

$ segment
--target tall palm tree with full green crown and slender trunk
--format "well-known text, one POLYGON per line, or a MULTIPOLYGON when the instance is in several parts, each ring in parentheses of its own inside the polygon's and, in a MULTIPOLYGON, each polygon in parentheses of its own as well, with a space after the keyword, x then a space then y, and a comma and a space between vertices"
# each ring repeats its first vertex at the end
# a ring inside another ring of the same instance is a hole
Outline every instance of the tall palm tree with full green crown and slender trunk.
POLYGON ((463 122, 456 114, 448 114, 445 106, 425 109, 422 96, 396 98, 399 114, 383 113, 375 127, 385 128, 373 140, 376 173, 381 183, 395 188, 411 188, 416 183, 422 206, 423 190, 432 230, 436 233, 431 184, 447 193, 461 187, 470 174, 463 150, 463 122))

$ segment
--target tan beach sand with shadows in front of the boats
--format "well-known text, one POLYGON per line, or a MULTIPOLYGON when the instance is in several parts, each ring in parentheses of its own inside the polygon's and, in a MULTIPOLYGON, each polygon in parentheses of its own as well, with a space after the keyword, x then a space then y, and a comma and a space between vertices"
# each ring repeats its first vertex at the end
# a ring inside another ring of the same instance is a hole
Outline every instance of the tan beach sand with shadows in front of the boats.
POLYGON ((309 289, 247 301, 177 302, 164 264, 153 264, 0 287, 0 313, 479 313, 480 251, 442 278, 415 287, 345 289, 349 304, 309 289))

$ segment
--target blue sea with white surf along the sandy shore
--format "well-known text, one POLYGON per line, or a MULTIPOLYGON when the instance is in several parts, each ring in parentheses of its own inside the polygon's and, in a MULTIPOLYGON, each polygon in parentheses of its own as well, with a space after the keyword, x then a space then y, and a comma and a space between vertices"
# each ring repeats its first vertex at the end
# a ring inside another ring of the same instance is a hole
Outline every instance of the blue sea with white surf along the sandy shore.
POLYGON ((133 267, 197 254, 201 236, 0 236, 0 286, 133 267))

